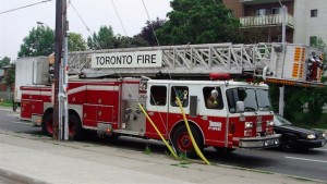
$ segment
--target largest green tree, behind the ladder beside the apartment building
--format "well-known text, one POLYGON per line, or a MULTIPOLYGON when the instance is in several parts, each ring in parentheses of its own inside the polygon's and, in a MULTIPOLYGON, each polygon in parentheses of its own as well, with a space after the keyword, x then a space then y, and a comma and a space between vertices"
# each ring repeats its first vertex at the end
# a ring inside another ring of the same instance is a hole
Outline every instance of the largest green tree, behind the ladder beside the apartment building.
POLYGON ((173 0, 158 29, 161 45, 235 41, 240 22, 221 0, 173 0))

